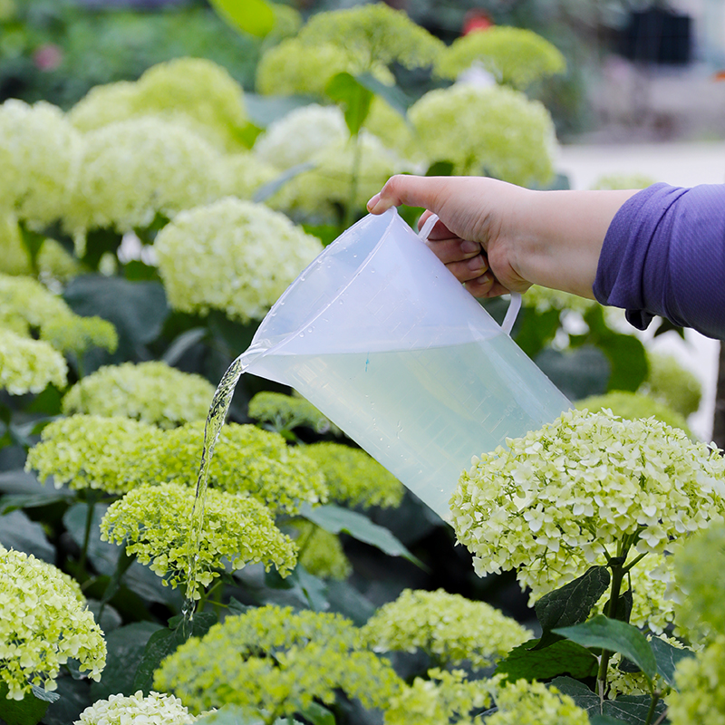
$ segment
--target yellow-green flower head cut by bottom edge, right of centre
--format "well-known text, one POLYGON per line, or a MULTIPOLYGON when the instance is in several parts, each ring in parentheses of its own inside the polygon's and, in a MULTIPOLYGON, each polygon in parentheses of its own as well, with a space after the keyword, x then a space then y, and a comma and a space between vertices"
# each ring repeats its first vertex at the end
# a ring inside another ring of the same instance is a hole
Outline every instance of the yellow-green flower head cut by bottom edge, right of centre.
POLYGON ((486 725, 589 725, 589 716, 568 695, 543 682, 518 680, 497 687, 494 699, 498 710, 486 725))

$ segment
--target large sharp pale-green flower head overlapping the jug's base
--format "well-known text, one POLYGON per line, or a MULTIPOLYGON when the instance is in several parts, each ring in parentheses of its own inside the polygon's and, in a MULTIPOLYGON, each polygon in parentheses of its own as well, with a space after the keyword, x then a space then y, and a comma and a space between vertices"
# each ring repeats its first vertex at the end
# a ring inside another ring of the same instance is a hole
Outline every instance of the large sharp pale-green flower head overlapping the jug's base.
POLYGON ((657 420, 567 411, 507 445, 461 474, 452 522, 478 575, 518 569, 532 602, 723 519, 725 461, 657 420))

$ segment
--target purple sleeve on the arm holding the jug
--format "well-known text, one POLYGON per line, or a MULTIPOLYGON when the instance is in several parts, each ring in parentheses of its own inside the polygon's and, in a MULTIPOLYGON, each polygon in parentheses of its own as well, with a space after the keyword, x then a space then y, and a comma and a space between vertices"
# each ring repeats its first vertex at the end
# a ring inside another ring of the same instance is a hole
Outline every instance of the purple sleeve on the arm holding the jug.
POLYGON ((640 330, 659 314, 725 338, 725 184, 655 184, 629 198, 604 238, 594 296, 640 330))

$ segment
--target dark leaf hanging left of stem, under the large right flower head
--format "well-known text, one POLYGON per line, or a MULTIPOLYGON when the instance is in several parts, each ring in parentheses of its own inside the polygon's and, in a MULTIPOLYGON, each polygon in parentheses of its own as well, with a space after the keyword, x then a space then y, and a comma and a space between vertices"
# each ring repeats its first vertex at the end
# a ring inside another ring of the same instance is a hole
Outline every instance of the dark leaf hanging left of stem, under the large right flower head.
POLYGON ((556 642, 556 636, 551 634, 556 627, 570 627, 585 622, 610 580, 606 566, 592 566, 573 582, 542 596, 534 604, 536 617, 543 630, 537 649, 556 642))

